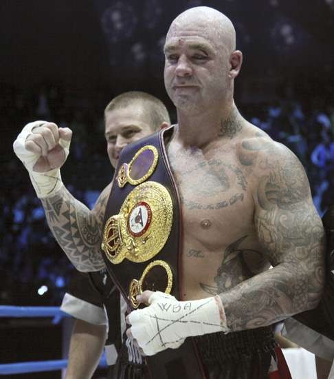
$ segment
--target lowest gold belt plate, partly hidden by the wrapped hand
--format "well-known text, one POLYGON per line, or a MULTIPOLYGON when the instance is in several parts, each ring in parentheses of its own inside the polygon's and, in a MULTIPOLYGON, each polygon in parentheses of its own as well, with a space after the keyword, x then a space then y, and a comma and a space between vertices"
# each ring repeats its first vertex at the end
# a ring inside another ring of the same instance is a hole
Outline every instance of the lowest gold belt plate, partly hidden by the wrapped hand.
POLYGON ((131 280, 129 299, 133 308, 139 307, 136 297, 146 291, 146 289, 150 291, 162 291, 165 294, 170 294, 170 291, 172 291, 172 270, 164 260, 153 260, 144 269, 140 280, 131 280), (155 273, 153 273, 154 271, 155 273))

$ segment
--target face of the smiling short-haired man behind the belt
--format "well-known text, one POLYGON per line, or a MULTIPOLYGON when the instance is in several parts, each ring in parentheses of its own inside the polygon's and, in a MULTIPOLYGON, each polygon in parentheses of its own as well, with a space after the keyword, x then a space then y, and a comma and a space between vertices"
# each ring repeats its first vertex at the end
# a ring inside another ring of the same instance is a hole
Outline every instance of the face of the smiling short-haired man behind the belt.
POLYGON ((105 116, 107 152, 111 165, 116 167, 123 147, 153 134, 154 130, 139 104, 111 110, 105 116))

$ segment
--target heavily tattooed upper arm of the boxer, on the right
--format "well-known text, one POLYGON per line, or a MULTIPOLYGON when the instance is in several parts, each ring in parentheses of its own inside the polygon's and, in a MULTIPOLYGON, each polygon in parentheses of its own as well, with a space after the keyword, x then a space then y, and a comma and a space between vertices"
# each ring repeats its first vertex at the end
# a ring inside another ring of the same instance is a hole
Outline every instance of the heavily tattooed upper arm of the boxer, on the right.
POLYGON ((271 265, 306 258, 319 260, 324 230, 304 168, 295 156, 289 154, 285 161, 268 163, 255 203, 258 241, 271 265))

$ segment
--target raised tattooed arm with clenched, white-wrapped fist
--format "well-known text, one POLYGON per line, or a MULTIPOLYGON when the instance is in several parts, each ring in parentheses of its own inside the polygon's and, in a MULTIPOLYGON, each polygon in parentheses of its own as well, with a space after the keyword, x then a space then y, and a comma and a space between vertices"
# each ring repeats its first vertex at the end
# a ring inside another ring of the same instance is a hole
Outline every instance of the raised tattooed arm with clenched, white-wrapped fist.
POLYGON ((92 211, 67 191, 60 167, 66 161, 70 141, 68 128, 36 121, 25 125, 13 147, 30 174, 60 247, 79 271, 97 271, 104 267, 100 236, 111 185, 104 189, 92 211))

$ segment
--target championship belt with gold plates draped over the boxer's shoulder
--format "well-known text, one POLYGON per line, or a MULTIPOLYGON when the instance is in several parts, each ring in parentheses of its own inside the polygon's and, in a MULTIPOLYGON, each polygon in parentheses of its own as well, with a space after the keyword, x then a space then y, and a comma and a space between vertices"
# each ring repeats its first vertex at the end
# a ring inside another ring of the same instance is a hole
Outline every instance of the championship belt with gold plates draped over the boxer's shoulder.
MULTIPOLYGON (((173 127, 122 150, 104 216, 101 250, 131 310, 146 289, 181 295, 181 209, 165 150, 173 127)), ((203 379, 192 338, 145 357, 152 379, 203 379)))

